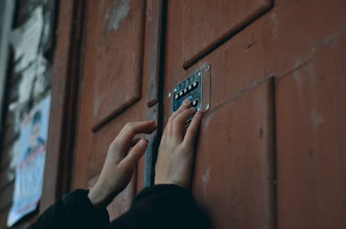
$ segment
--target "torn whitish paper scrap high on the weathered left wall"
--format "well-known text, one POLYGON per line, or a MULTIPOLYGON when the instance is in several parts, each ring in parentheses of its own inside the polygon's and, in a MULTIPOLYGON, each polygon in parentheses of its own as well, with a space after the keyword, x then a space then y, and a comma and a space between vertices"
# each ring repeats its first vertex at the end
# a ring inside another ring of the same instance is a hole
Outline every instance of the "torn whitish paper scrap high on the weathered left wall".
POLYGON ((24 70, 37 58, 43 27, 42 6, 38 6, 24 25, 10 33, 10 43, 15 50, 15 61, 17 61, 15 72, 24 70))

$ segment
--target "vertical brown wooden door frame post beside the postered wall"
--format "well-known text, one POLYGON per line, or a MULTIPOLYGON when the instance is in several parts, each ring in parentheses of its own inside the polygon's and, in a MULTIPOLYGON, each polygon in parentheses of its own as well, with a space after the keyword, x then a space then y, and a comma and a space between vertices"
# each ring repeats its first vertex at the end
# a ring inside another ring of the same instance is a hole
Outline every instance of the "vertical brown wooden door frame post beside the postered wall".
POLYGON ((40 212, 69 192, 71 183, 78 83, 82 63, 80 57, 84 33, 84 4, 84 1, 60 1, 40 212))

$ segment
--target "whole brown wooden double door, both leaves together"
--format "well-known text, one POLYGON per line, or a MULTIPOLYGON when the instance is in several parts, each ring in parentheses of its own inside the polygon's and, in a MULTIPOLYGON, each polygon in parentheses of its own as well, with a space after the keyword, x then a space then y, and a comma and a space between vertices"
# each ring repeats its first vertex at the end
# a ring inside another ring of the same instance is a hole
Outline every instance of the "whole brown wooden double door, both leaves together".
MULTIPOLYGON (((212 228, 343 228, 345 1, 164 2, 88 1, 72 188, 95 183, 127 121, 165 123, 169 92, 210 65, 192 193, 212 228)), ((111 217, 151 168, 140 161, 111 217)))

